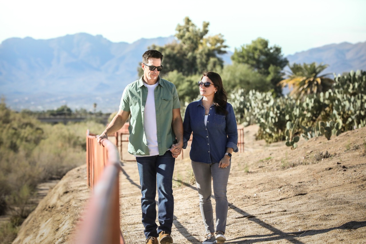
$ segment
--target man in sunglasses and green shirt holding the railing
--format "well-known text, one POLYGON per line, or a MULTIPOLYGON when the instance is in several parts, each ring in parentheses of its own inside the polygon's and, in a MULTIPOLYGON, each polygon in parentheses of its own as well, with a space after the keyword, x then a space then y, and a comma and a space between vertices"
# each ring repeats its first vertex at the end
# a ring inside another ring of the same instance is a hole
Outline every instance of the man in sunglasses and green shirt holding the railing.
POLYGON ((183 146, 183 121, 175 86, 162 78, 163 54, 148 50, 142 55, 143 76, 127 85, 119 111, 98 137, 108 138, 130 117, 128 152, 136 156, 140 184, 142 223, 146 244, 173 243, 174 199, 172 179, 175 158, 183 146), (158 221, 156 221, 156 187, 158 221))

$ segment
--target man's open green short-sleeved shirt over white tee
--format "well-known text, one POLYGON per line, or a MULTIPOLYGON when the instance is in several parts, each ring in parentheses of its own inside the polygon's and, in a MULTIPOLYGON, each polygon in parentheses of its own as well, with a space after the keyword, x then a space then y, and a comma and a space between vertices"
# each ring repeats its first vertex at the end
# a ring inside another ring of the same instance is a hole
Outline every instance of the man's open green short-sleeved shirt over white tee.
MULTIPOLYGON (((159 84, 154 89, 156 130, 159 155, 164 155, 175 143, 176 138, 172 129, 173 109, 180 108, 178 93, 172 82, 158 77, 159 84)), ((149 148, 143 128, 144 109, 147 99, 147 87, 142 77, 127 85, 123 91, 119 108, 131 112, 128 131, 128 152, 133 155, 148 156, 149 148)))

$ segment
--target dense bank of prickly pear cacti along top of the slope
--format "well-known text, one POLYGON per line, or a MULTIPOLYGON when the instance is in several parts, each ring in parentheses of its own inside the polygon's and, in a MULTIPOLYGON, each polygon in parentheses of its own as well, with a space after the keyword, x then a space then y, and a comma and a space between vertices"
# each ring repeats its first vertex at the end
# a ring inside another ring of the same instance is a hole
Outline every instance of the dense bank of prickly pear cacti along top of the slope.
POLYGON ((333 89, 302 100, 244 89, 234 90, 230 97, 237 122, 258 124, 257 138, 267 143, 286 139, 288 146, 296 148, 295 133, 306 140, 317 136, 330 140, 332 135, 366 126, 366 71, 362 70, 338 75, 333 89))

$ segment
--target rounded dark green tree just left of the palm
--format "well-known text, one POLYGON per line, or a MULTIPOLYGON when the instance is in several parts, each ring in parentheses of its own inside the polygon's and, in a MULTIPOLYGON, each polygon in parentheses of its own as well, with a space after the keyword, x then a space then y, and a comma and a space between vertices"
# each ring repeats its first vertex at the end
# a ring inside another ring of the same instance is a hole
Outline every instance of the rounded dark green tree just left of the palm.
POLYGON ((236 49, 231 56, 231 60, 236 63, 249 64, 258 73, 266 75, 268 81, 272 84, 277 95, 282 94, 282 89, 277 84, 282 80, 283 68, 288 60, 283 57, 281 47, 269 46, 268 40, 258 37, 251 44, 243 45, 236 49))

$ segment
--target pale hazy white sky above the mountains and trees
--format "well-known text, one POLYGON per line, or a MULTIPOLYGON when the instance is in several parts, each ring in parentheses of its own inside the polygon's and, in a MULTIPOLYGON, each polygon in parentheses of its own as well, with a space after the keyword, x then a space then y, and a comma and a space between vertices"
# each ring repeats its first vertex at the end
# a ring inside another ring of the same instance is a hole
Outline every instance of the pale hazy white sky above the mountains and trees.
POLYGON ((112 42, 174 35, 188 16, 231 51, 257 37, 284 55, 340 42, 366 41, 365 0, 9 0, 0 3, 0 42, 85 32, 112 42))

